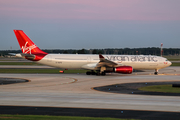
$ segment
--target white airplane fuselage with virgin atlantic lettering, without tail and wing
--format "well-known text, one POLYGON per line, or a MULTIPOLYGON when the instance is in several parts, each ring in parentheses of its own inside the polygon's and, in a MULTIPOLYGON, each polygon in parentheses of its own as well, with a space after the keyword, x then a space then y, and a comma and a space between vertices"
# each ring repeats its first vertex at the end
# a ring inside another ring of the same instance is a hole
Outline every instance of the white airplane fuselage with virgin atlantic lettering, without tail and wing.
MULTIPOLYGON (((105 59, 133 69, 159 70, 171 65, 166 58, 151 55, 103 55, 105 59)), ((48 54, 38 63, 63 69, 95 70, 98 55, 91 54, 48 54)))

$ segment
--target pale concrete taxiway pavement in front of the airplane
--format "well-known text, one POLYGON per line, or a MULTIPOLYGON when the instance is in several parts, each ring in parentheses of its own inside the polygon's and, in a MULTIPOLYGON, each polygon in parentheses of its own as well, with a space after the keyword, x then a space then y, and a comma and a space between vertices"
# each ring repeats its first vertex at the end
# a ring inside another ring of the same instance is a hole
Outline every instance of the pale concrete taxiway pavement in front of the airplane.
POLYGON ((4 78, 30 80, 26 83, 1 85, 0 105, 180 112, 178 96, 117 94, 92 89, 121 83, 180 81, 179 67, 164 69, 161 71, 162 75, 145 73, 108 74, 107 76, 0 74, 4 78), (169 72, 172 75, 163 75, 163 72, 169 72))

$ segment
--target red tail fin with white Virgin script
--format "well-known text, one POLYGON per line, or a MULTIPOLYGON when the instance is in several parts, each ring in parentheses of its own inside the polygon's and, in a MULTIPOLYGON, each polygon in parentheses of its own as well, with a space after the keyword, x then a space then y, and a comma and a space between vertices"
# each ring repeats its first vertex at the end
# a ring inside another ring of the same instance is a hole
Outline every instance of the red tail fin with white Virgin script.
POLYGON ((14 30, 14 33, 23 53, 47 54, 46 52, 43 52, 41 49, 39 49, 22 30, 14 30))

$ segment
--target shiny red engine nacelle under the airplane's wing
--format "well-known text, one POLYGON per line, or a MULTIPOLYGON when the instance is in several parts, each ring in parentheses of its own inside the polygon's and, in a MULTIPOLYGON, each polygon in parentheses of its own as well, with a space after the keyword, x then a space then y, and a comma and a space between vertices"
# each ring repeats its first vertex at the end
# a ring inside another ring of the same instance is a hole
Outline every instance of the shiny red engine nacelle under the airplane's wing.
POLYGON ((114 68, 114 72, 122 74, 131 74, 133 72, 133 68, 131 66, 119 66, 114 68))

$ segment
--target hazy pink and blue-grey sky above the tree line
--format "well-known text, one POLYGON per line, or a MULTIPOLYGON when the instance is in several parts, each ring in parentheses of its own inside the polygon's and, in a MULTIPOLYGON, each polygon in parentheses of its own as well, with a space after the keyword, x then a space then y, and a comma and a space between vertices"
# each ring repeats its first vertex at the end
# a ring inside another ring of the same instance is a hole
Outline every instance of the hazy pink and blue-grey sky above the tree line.
POLYGON ((42 49, 180 48, 180 0, 0 0, 0 50, 13 29, 42 49))

